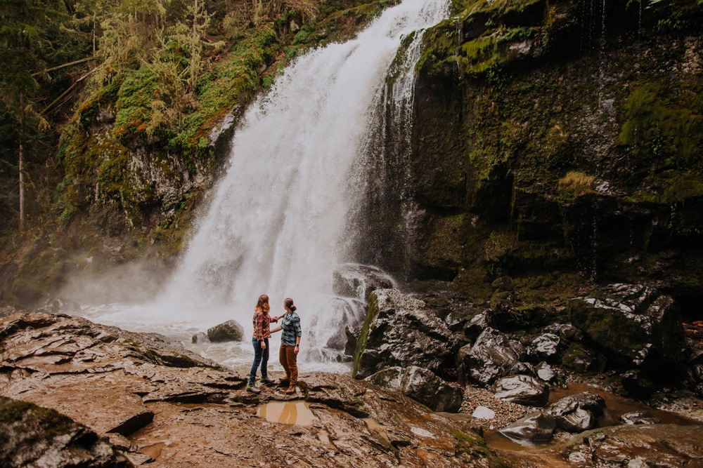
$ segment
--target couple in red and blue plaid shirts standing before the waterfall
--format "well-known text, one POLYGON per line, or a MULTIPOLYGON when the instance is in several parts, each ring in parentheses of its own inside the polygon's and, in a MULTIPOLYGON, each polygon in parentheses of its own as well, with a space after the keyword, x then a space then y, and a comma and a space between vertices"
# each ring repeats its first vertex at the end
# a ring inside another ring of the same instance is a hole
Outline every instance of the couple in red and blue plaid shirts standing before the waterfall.
POLYGON ((269 363, 269 338, 271 333, 283 331, 280 337, 280 349, 278 349, 278 361, 285 370, 285 379, 280 379, 280 385, 288 386, 285 390, 287 394, 295 393, 295 386, 298 383, 298 350, 300 345, 300 317, 295 313, 297 307, 293 305, 293 300, 288 297, 283 301, 285 314, 279 316, 269 315, 269 296, 262 294, 257 301, 257 307, 254 308, 254 335, 252 337, 252 345, 254 345, 254 363, 252 370, 249 373, 249 382, 247 382, 247 392, 260 393, 261 390, 254 385, 257 377, 257 369, 261 366, 262 383, 264 385, 275 385, 276 382, 269 379, 269 373, 266 369, 269 363), (271 330, 271 322, 280 321, 280 326, 271 330))

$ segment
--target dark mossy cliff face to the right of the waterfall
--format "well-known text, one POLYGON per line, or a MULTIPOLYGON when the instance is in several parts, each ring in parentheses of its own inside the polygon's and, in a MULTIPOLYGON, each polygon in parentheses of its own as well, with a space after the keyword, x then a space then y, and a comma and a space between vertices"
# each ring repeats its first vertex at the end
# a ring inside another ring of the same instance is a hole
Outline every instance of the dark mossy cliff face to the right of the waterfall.
POLYGON ((703 8, 596 3, 457 2, 425 34, 415 277, 481 297, 571 271, 699 299, 703 8))

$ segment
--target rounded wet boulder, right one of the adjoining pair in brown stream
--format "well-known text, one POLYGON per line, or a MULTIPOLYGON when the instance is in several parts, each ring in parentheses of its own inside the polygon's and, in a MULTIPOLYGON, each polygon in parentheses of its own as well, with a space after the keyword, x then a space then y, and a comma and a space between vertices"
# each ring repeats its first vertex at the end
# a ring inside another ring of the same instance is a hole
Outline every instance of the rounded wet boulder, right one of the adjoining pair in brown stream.
POLYGON ((590 392, 565 396, 554 403, 547 414, 567 432, 583 432, 598 426, 598 418, 607 412, 605 400, 590 392))

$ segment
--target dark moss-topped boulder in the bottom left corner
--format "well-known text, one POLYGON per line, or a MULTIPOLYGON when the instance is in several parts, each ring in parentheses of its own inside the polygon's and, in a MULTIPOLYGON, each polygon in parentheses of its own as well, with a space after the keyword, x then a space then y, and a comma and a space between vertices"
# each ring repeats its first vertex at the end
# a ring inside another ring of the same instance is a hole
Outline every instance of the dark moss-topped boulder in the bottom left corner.
POLYGON ((0 396, 0 466, 127 468, 98 434, 49 408, 0 396))

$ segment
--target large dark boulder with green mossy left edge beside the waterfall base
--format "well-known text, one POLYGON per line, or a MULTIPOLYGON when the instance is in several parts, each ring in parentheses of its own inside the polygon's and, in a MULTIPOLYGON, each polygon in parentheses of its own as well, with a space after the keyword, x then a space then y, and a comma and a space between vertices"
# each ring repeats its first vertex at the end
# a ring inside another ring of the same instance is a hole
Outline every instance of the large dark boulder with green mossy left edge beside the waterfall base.
POLYGON ((417 366, 443 375, 453 369, 458 342, 425 303, 395 289, 370 295, 354 352, 353 375, 365 378, 389 367, 417 366))

